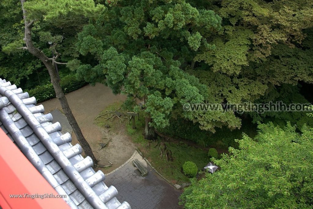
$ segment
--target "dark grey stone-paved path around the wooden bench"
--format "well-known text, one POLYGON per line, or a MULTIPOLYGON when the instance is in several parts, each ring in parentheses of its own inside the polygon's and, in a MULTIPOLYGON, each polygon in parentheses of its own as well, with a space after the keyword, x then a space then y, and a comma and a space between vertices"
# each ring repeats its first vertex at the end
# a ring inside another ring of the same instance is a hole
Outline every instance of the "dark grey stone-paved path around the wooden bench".
POLYGON ((107 186, 114 185, 118 191, 117 199, 127 201, 132 209, 170 209, 182 208, 178 205, 181 190, 175 189, 162 179, 146 163, 140 154, 133 159, 138 159, 149 171, 146 177, 132 165, 132 161, 105 177, 107 186))

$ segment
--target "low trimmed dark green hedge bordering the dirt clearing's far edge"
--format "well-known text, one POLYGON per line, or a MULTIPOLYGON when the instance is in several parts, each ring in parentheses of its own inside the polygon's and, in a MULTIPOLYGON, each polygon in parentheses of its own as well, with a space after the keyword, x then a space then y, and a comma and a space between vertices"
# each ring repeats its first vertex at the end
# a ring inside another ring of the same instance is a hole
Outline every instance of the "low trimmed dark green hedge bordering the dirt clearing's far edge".
MULTIPOLYGON (((85 81, 78 81, 74 74, 66 75, 60 78, 60 84, 64 93, 75 91, 87 83, 85 81)), ((30 97, 35 97, 37 102, 44 102, 48 99, 55 98, 54 88, 52 83, 36 86, 27 90, 30 97)))

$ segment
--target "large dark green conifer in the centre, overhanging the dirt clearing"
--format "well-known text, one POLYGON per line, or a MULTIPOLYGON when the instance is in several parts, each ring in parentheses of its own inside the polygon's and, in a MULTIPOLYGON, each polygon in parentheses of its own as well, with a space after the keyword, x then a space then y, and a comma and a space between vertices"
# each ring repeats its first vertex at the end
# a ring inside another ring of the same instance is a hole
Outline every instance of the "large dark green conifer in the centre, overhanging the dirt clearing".
POLYGON ((233 113, 182 111, 182 105, 206 102, 210 96, 206 86, 182 68, 194 65, 197 50, 214 47, 207 40, 221 29, 217 14, 184 0, 111 3, 116 6, 108 8, 110 15, 91 21, 78 35, 80 54, 99 60, 95 66, 76 66, 79 78, 106 78, 114 93, 144 100, 147 139, 155 138, 153 129, 167 126, 173 115, 211 131, 240 126, 233 113))

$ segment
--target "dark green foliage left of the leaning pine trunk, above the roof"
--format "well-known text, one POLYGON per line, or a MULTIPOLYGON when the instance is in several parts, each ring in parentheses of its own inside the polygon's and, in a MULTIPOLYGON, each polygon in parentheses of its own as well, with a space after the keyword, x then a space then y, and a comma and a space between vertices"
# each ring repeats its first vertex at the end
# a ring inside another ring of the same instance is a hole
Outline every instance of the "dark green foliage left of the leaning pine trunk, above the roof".
POLYGON ((23 46, 23 19, 21 3, 18 0, 0 3, 0 77, 16 85, 42 68, 39 60, 26 51, 17 50, 23 46))

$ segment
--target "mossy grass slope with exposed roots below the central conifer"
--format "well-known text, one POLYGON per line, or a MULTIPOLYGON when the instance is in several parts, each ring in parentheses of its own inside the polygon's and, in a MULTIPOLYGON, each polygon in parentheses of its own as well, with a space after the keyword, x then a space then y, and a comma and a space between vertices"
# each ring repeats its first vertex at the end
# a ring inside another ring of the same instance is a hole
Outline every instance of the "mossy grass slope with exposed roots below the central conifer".
MULTIPOLYGON (((120 112, 127 112, 121 102, 115 102, 104 109, 100 116, 107 113, 110 110, 117 110, 120 112), (121 107, 121 108, 120 108, 121 107), (120 109, 119 109, 120 108, 120 109)), ((208 157, 208 150, 201 148, 187 140, 178 140, 169 138, 167 136, 159 137, 157 141, 149 141, 144 139, 142 133, 145 127, 145 118, 143 112, 139 112, 139 119, 136 117, 136 129, 132 128, 132 125, 128 123, 128 119, 115 118, 114 120, 107 120, 109 116, 98 117, 95 122, 100 127, 110 125, 112 132, 119 132, 121 126, 126 126, 126 133, 140 149, 141 153, 146 157, 153 167, 160 173, 162 173, 167 180, 172 184, 190 183, 190 179, 182 173, 182 165, 186 161, 192 161, 196 163, 198 169, 201 170, 210 161, 208 157), (166 147, 165 147, 166 145, 166 147), (163 151, 161 151, 163 150, 163 151), (163 154, 162 154, 163 153, 163 154)), ((160 135, 160 136, 161 136, 160 135)))

